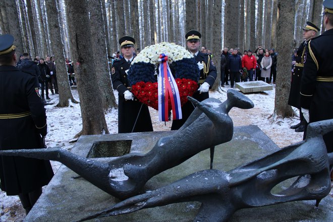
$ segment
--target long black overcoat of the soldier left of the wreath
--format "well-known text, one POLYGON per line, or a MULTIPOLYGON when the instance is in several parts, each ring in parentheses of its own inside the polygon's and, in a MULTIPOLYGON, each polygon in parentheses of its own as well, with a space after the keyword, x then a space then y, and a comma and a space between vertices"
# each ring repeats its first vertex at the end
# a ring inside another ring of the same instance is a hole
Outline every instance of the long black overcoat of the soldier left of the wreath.
MULTIPOLYGON (((114 61, 112 66, 112 84, 118 91, 118 133, 150 132, 153 131, 148 106, 136 97, 126 100, 124 92, 130 90, 126 70, 130 65, 125 58, 114 61)), ((130 90, 131 91, 131 90, 130 90)))

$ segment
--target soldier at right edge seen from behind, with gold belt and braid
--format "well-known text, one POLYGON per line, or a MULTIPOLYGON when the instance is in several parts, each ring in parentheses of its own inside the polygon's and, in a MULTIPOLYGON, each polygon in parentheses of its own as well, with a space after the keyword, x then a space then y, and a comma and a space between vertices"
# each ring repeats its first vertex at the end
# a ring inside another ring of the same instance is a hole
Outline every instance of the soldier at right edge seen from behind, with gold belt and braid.
MULTIPOLYGON (((309 41, 304 53, 301 108, 309 122, 333 119, 333 0, 325 0, 325 32, 309 41)), ((327 152, 333 151, 333 132, 323 135, 327 152)))

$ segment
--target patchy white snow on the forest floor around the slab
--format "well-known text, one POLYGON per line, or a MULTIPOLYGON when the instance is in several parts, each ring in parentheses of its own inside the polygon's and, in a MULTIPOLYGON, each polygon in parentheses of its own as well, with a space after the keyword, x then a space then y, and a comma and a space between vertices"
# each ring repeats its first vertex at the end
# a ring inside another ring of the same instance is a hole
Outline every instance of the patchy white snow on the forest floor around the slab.
MULTIPOLYGON (((227 86, 229 87, 229 86, 227 86)), ((217 91, 210 92, 210 97, 221 101, 227 99, 229 88, 219 88, 217 91)), ((79 100, 77 90, 72 90, 74 98, 79 100)), ((62 147, 71 150, 75 143, 70 142, 74 136, 82 129, 80 104, 71 103, 70 107, 58 108, 55 105, 59 101, 59 95, 49 95, 51 100, 46 105, 46 115, 48 124, 48 134, 45 138, 47 147, 62 147)), ((118 92, 115 91, 118 98, 118 92)), ((234 121, 234 126, 257 125, 273 142, 279 147, 284 147, 303 138, 303 133, 296 133, 290 129, 291 125, 299 122, 298 117, 269 118, 274 110, 275 87, 271 91, 246 94, 253 102, 252 109, 231 109, 229 115, 234 121)), ((152 117, 154 131, 170 130, 172 122, 159 122, 156 110, 149 108, 152 117)), ((118 132, 118 110, 111 109, 105 114, 105 120, 109 133, 118 132)), ((53 171, 56 172, 60 167, 59 162, 51 161, 53 171)), ((330 194, 332 195, 332 194, 330 194)), ((0 221, 22 221, 25 211, 20 204, 17 196, 6 196, 5 192, 0 192, 0 221)))

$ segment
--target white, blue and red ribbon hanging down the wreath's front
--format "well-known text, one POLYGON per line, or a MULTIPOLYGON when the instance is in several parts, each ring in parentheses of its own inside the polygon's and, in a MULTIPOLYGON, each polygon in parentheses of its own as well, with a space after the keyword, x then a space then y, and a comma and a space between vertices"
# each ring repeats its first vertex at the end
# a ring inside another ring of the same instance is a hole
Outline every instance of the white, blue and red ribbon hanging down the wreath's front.
POLYGON ((171 100, 173 120, 182 119, 182 107, 179 90, 168 65, 168 56, 160 54, 158 74, 158 118, 159 121, 168 121, 168 102, 171 100))

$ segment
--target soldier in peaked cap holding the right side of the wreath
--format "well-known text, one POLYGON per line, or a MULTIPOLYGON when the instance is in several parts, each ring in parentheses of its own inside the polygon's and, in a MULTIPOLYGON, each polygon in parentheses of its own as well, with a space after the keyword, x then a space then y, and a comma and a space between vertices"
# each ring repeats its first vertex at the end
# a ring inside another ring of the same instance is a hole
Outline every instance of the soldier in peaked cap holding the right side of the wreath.
MULTIPOLYGON (((198 101, 202 101, 206 98, 209 98, 208 90, 213 86, 217 77, 216 68, 209 54, 205 54, 199 51, 201 38, 200 32, 196 30, 190 30, 186 33, 185 38, 187 47, 193 54, 195 60, 198 62, 198 67, 200 69, 200 78, 198 81, 199 88, 192 97, 198 101)), ((192 102, 186 102, 182 106, 183 119, 174 120, 171 126, 171 130, 178 130, 181 128, 193 112, 194 108, 195 107, 192 102)))

